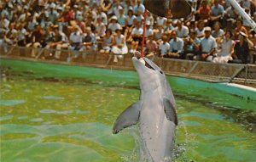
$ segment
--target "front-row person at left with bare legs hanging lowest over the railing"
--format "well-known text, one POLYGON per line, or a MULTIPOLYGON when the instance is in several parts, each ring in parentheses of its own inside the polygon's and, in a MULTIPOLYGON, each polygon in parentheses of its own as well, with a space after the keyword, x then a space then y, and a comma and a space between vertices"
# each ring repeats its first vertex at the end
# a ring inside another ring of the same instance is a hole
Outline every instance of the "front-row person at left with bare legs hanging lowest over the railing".
MULTIPOLYGON (((61 58, 61 49, 62 48, 67 48, 69 46, 67 36, 62 32, 59 31, 59 25, 54 26, 54 32, 55 32, 55 37, 53 42, 49 42, 49 44, 45 47, 47 49, 49 48, 55 48, 57 51, 55 52, 55 59, 60 59, 61 58)), ((51 54, 50 54, 51 55, 51 54)))

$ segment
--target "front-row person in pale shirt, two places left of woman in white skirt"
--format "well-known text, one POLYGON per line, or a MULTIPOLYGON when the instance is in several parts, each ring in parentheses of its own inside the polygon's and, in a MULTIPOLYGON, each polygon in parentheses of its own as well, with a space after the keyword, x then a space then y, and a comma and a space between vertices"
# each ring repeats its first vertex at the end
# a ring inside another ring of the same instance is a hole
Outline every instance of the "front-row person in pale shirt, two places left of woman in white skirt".
POLYGON ((83 36, 83 41, 82 41, 82 47, 79 49, 79 51, 84 51, 85 53, 83 54, 83 59, 86 55, 87 51, 96 51, 96 36, 95 34, 91 31, 90 27, 85 28, 84 36, 83 36))

